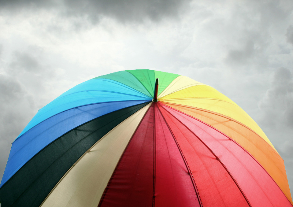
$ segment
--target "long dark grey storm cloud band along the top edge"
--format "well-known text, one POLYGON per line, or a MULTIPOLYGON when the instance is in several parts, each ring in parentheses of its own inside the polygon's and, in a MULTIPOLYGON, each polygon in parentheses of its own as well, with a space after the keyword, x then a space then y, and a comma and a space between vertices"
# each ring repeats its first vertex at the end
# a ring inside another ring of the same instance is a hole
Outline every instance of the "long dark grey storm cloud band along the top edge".
POLYGON ((145 19, 153 21, 163 17, 176 17, 191 0, 84 0, 84 1, 1 1, 0 7, 10 11, 22 9, 54 9, 61 15, 87 17, 97 23, 103 17, 112 17, 120 22, 140 22, 145 19))

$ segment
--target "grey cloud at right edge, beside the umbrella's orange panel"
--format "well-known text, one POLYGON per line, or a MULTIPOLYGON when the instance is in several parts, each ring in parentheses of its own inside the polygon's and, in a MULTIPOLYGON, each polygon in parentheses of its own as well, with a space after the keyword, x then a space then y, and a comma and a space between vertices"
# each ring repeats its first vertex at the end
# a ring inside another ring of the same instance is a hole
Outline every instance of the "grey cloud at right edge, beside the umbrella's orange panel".
POLYGON ((258 106, 261 111, 259 124, 284 159, 292 191, 293 75, 289 69, 275 71, 270 87, 258 106))

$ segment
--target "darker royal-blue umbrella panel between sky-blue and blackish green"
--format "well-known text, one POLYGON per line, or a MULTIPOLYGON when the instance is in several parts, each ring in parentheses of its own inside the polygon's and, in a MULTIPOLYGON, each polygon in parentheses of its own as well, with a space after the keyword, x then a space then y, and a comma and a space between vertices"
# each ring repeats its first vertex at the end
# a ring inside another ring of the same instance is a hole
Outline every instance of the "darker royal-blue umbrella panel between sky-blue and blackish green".
POLYGON ((103 102, 80 106, 37 124, 12 143, 0 187, 36 153, 71 129, 104 114, 148 101, 103 102))

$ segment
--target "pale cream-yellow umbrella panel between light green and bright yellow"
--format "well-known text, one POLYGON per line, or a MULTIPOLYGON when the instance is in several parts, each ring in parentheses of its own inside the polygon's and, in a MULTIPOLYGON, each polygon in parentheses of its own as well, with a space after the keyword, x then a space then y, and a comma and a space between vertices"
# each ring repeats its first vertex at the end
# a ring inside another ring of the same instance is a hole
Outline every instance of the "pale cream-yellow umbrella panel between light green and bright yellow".
POLYGON ((169 84, 168 87, 164 89, 164 91, 161 92, 161 94, 158 95, 158 98, 162 98, 165 95, 174 93, 176 91, 180 91, 182 89, 185 89, 191 86, 197 86, 197 85, 206 85, 206 84, 199 83, 198 81, 188 78, 186 76, 178 76, 169 84))

